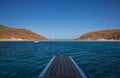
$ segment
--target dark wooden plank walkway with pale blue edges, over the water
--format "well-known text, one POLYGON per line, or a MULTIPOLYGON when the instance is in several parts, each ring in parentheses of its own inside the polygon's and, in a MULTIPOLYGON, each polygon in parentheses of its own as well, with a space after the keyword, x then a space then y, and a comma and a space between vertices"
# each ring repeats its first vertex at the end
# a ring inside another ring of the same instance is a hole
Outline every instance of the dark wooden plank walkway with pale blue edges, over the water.
POLYGON ((55 56, 39 78, 87 78, 79 66, 68 56, 55 56))

